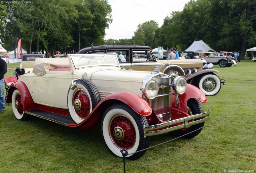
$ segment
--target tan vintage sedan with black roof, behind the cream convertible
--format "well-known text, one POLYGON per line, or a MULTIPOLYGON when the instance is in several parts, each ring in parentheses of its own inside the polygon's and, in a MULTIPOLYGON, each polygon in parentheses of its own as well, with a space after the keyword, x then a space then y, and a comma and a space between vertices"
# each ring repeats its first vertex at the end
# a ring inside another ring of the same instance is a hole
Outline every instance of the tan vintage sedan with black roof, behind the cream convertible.
POLYGON ((200 88, 205 95, 215 95, 220 91, 221 83, 226 84, 214 72, 219 72, 207 67, 206 61, 201 59, 192 60, 156 60, 152 49, 148 46, 132 45, 101 45, 81 49, 78 54, 98 54, 122 52, 125 59, 119 58, 119 63, 126 69, 150 71, 159 67, 159 71, 165 74, 175 73, 177 76, 184 76, 189 84, 200 88), (134 57, 138 55, 138 59, 134 57), (181 67, 183 70, 180 70, 181 67))

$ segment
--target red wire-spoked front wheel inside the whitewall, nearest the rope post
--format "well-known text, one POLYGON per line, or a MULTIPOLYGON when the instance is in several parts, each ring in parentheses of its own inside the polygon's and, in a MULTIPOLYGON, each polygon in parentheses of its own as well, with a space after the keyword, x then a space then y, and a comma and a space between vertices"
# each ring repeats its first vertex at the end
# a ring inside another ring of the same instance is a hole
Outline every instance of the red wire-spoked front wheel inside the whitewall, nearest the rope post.
POLYGON ((109 132, 115 145, 122 149, 131 148, 136 140, 132 122, 122 115, 114 117, 109 124, 109 132))

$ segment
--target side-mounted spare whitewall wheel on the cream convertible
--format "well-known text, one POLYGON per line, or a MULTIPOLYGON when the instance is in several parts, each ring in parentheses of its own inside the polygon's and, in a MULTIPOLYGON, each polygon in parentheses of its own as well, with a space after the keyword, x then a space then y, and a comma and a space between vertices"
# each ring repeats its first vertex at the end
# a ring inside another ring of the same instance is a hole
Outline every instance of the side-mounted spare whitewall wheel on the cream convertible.
POLYGON ((81 123, 100 102, 100 93, 88 79, 77 79, 76 86, 74 90, 68 89, 68 110, 72 119, 81 123))

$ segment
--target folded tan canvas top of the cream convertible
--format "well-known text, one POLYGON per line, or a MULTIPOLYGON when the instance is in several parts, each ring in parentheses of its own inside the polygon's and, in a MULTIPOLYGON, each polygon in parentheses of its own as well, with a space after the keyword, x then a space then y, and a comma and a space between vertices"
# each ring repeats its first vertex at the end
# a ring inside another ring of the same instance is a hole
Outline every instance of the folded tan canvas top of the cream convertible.
POLYGON ((68 58, 36 58, 33 73, 41 76, 54 68, 70 67, 68 58))

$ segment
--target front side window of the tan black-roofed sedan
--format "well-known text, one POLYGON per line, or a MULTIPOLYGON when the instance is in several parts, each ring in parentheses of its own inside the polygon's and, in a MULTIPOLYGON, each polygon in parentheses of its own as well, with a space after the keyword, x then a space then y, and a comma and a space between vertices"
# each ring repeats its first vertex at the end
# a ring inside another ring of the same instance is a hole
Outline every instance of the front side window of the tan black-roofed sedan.
POLYGON ((133 49, 132 50, 132 61, 136 62, 152 62, 155 61, 154 55, 149 49, 139 50, 133 49))

